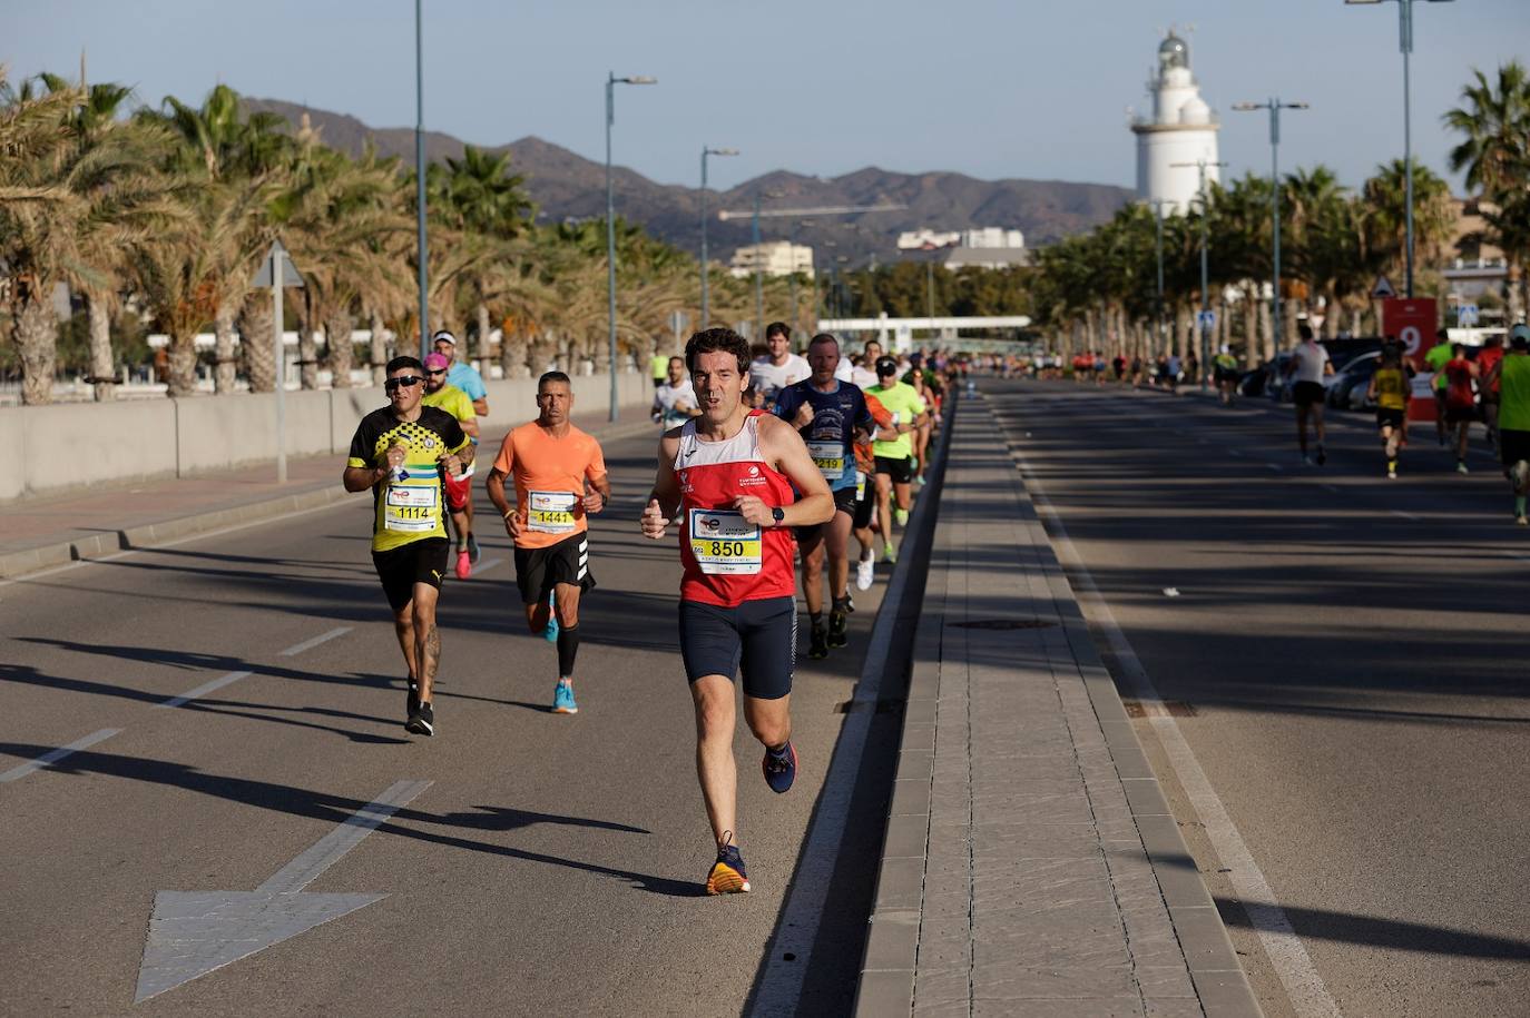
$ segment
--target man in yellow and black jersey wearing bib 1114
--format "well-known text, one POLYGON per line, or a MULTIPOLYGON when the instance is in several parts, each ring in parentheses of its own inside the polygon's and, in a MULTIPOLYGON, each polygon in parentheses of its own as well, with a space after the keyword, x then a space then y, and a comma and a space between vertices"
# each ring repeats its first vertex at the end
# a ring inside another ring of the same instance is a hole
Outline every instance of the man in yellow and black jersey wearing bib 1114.
POLYGON ((372 564, 409 668, 404 729, 415 735, 436 731, 436 599, 447 573, 441 474, 461 474, 474 452, 451 414, 421 404, 424 382, 425 368, 415 358, 387 362, 382 391, 389 405, 356 425, 343 478, 346 491, 372 491, 372 564))

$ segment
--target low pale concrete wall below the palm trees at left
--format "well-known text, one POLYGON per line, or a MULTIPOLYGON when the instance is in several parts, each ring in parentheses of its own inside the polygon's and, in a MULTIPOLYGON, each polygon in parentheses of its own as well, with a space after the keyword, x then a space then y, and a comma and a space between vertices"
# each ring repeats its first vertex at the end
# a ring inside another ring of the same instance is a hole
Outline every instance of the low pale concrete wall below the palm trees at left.
MULTIPOLYGON (((617 378, 620 405, 647 405, 653 384, 617 378)), ((536 379, 488 382, 488 430, 537 416, 536 379)), ((609 402, 609 376, 574 378, 575 413, 609 402)), ((381 388, 286 393, 286 452, 344 452, 356 423, 387 405, 381 388)), ((240 393, 119 404, 0 408, 0 501, 89 485, 191 477, 275 459, 275 396, 240 393)))

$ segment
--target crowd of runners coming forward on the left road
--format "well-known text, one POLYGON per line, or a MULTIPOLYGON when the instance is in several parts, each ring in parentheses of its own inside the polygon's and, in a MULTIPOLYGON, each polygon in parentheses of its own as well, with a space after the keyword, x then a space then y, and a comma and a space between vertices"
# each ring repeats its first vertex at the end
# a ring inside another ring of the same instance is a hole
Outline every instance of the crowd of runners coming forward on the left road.
MULTIPOLYGON (((477 417, 488 411, 482 378, 456 359, 451 333, 436 333, 433 347, 424 362, 387 364, 389 404, 356 426, 344 471, 347 491, 373 497, 372 559, 407 669, 404 728, 415 735, 438 725, 442 581, 448 567, 468 579, 479 558, 471 478, 477 417)), ((852 572, 864 592, 878 564, 897 562, 947 387, 964 370, 939 352, 895 356, 877 341, 842 350, 828 333, 803 349, 794 353, 788 326, 773 323, 757 356, 737 333, 708 329, 684 356, 653 362, 662 436, 636 523, 655 541, 679 532, 678 644, 716 842, 708 894, 750 890, 736 841, 734 682, 765 751, 765 783, 786 792, 797 772, 799 582, 808 657, 848 647, 852 572)), ((536 400, 537 417, 500 442, 485 491, 516 549, 526 625, 557 648, 551 709, 577 714, 578 608, 595 587, 589 517, 607 507, 610 480, 600 442, 571 422, 569 376, 543 374, 536 400)))

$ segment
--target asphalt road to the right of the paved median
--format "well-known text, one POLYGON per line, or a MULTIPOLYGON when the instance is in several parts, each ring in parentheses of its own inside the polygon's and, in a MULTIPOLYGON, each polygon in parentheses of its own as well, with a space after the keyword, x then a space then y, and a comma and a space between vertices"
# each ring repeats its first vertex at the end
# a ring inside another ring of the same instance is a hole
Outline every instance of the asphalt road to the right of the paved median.
MULTIPOLYGON (((1530 1013, 1530 533, 1492 460, 1457 475, 1429 425, 1389 481, 1357 414, 1304 468, 1265 400, 982 388, 1320 989, 1346 1015, 1530 1013)), ((1317 1013, 1138 735, 1267 1013, 1317 1013)))

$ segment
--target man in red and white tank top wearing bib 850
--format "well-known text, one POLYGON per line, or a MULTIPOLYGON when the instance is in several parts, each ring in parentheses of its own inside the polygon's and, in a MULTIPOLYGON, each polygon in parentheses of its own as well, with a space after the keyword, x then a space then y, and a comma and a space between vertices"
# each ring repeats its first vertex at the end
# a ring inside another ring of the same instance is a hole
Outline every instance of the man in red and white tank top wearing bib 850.
POLYGON ((765 783, 786 792, 797 776, 789 527, 828 523, 834 495, 791 425, 744 407, 750 349, 742 336, 698 332, 685 344, 685 365, 702 413, 659 440, 643 535, 662 540, 679 514, 679 645, 696 709, 696 776, 718 850, 705 888, 733 894, 750 890, 734 841, 733 677, 742 671, 744 718, 765 744, 765 783))

